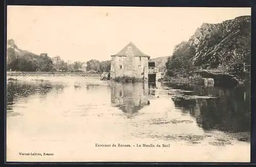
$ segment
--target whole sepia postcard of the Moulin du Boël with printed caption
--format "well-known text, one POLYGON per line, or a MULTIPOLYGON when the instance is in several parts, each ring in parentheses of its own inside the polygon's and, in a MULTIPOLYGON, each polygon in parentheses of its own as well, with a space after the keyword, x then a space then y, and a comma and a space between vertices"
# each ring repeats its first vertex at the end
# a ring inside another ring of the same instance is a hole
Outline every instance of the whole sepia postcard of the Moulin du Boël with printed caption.
POLYGON ((251 8, 7 6, 7 162, 250 162, 251 8))

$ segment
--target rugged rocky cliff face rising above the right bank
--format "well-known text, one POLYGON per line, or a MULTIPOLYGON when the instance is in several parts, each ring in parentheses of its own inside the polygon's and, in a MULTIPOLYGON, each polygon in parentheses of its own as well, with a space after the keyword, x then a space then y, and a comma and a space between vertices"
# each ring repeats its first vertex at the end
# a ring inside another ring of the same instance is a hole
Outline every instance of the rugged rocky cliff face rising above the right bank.
POLYGON ((221 68, 238 61, 250 64, 251 16, 203 23, 188 43, 196 51, 195 66, 221 68))

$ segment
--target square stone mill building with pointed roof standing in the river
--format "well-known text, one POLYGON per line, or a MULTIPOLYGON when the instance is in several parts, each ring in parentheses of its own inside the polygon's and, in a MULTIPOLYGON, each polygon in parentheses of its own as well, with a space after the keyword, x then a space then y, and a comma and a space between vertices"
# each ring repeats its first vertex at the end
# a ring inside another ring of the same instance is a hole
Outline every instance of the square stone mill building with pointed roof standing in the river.
POLYGON ((140 51, 132 42, 117 54, 111 55, 111 58, 111 79, 129 76, 156 80, 155 63, 149 63, 150 56, 140 51))

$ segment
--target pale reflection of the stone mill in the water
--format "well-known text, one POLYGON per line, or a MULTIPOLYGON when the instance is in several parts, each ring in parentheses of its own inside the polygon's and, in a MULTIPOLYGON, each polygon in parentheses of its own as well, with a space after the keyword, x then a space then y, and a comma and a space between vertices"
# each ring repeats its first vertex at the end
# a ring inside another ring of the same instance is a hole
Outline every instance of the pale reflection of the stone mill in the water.
POLYGON ((137 113, 149 104, 148 83, 119 84, 112 82, 111 103, 130 116, 137 113))

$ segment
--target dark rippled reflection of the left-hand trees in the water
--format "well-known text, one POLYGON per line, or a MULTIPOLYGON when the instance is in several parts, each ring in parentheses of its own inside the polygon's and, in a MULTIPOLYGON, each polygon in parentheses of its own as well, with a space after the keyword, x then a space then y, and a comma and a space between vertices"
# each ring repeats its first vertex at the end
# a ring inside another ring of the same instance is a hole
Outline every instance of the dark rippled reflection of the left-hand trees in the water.
POLYGON ((53 90, 59 91, 63 88, 62 85, 52 85, 50 82, 9 81, 6 86, 7 110, 11 111, 13 109, 17 99, 23 98, 26 101, 26 98, 33 94, 46 95, 53 90))

